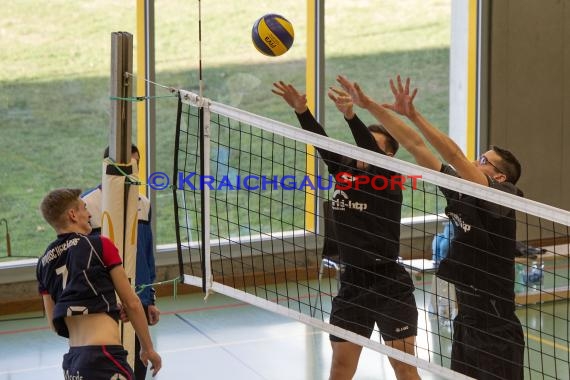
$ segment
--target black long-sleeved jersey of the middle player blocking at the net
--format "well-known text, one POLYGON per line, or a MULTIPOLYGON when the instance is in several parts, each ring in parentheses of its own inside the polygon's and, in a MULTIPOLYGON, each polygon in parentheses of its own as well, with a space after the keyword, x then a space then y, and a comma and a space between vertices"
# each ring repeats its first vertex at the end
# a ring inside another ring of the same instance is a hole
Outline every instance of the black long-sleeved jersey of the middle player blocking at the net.
MULTIPOLYGON (((309 111, 297 114, 297 118, 303 129, 327 135, 309 111)), ((347 122, 357 146, 385 154, 356 115, 347 122)), ((397 261, 402 189, 391 181, 401 176, 372 165, 359 169, 355 159, 326 149, 317 150, 335 177, 331 205, 341 261, 360 268, 397 261), (357 186, 355 181, 359 176, 368 177, 369 182, 357 186)))

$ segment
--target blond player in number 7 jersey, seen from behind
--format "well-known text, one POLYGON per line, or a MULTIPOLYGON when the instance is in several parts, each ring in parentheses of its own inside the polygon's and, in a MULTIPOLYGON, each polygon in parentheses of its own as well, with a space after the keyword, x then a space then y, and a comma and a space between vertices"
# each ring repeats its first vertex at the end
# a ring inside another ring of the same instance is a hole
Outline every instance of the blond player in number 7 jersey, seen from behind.
POLYGON ((57 189, 43 199, 41 212, 57 239, 39 258, 37 279, 48 323, 69 339, 64 378, 133 379, 119 335, 119 295, 141 341, 140 357, 161 367, 141 302, 127 279, 115 245, 91 232, 90 214, 79 189, 57 189))

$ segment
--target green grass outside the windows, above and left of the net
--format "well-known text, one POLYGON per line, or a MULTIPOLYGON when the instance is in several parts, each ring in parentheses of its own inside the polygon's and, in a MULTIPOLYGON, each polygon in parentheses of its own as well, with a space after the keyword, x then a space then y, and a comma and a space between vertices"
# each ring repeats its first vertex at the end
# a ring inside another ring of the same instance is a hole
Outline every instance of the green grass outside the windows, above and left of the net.
MULTIPOLYGON (((38 256, 52 240, 38 211, 47 191, 100 182, 100 156, 109 133, 110 34, 135 32, 134 3, 23 0, 3 5, 0 218, 9 222, 15 255, 38 256)), ((279 79, 305 88, 305 1, 202 3, 205 96, 297 125, 270 89, 279 79), (296 32, 293 48, 279 58, 260 55, 250 41, 255 19, 270 12, 289 18, 296 32)), ((378 100, 389 101, 388 79, 409 75, 420 88, 417 106, 447 130, 450 7, 450 0, 327 0, 326 83, 334 84, 336 74, 343 73, 378 100)), ((156 2, 157 82, 197 90, 197 29, 197 2, 156 2)), ((167 94, 157 89, 157 95, 167 94)), ((175 109, 175 98, 157 101, 157 170, 167 173, 175 109)), ((331 137, 351 142, 328 101, 325 127, 331 137)), ((403 151, 398 157, 410 160, 403 151)), ((157 193, 154 210, 157 242, 173 242, 170 192, 157 193)))

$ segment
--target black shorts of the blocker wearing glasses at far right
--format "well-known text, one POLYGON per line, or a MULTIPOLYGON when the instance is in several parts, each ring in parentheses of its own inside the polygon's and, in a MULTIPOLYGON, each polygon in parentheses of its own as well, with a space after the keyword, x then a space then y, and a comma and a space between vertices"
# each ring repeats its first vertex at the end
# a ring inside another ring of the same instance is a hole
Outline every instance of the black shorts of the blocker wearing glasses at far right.
POLYGON ((523 380, 524 335, 514 318, 482 326, 476 318, 458 315, 453 322, 451 369, 480 380, 523 380))

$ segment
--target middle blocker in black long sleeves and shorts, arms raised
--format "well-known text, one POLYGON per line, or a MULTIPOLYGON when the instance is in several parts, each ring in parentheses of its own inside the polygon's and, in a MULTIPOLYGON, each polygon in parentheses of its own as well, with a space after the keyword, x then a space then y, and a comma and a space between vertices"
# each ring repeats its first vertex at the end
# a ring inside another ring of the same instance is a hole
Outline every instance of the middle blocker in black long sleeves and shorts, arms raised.
MULTIPOLYGON (((308 110, 305 95, 283 82, 274 83, 274 87, 272 91, 295 110, 303 129, 326 136, 308 110)), ((334 91, 329 92, 329 97, 343 113, 359 147, 388 156, 396 153, 398 143, 382 126, 367 128, 354 114, 350 97, 334 91)), ((376 323, 387 345, 413 355, 418 320, 414 285, 397 262, 402 189, 390 184, 379 190, 372 181, 361 181, 356 186, 362 176, 389 181, 397 174, 324 149, 318 151, 337 179, 331 204, 336 236, 342 239, 338 245, 344 266, 330 323, 368 338, 376 323)), ((330 340, 333 350, 330 379, 351 379, 362 347, 334 335, 330 340)), ((398 379, 419 379, 416 367, 394 359, 390 363, 398 379)))

